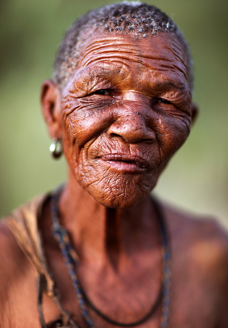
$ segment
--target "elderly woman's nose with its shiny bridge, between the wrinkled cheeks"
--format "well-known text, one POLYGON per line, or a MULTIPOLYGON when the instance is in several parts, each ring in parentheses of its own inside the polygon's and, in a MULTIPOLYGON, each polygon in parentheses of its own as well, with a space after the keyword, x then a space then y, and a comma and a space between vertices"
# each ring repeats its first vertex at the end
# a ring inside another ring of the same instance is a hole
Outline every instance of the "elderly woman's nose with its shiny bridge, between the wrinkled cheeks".
POLYGON ((125 99, 116 107, 114 122, 108 129, 110 136, 121 136, 128 142, 154 141, 155 134, 148 119, 149 104, 139 97, 125 99))

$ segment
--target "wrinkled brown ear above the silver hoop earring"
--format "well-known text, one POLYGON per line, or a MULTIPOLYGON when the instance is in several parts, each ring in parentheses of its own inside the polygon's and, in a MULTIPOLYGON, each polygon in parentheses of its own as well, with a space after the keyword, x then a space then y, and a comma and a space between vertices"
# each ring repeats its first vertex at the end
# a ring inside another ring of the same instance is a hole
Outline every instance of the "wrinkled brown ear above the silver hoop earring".
POLYGON ((40 101, 49 135, 51 138, 60 139, 62 136, 61 94, 53 81, 45 80, 42 84, 40 101))

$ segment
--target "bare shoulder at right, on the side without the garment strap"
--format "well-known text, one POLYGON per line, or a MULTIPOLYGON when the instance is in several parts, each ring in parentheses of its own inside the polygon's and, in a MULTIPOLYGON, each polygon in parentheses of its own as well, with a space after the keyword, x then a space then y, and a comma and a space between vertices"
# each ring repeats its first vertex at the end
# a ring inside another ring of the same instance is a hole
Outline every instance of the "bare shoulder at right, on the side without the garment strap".
POLYGON ((227 327, 227 231, 214 218, 195 216, 166 205, 162 207, 171 239, 173 294, 176 299, 173 303, 176 306, 183 302, 188 304, 186 313, 190 309, 193 313, 196 309, 198 322, 207 317, 208 324, 202 322, 202 326, 227 327), (178 294, 180 289, 182 293, 178 294), (199 317, 197 304, 201 304, 199 317))

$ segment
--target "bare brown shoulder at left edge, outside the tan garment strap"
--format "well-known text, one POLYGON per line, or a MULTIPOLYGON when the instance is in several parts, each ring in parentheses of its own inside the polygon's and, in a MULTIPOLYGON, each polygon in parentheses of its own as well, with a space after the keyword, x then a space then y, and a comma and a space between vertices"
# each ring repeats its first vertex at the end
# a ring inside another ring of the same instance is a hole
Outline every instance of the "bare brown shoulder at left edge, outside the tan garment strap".
MULTIPOLYGON (((0 326, 27 327, 21 313, 35 295, 35 272, 5 220, 0 221, 0 326), (33 282, 31 284, 31 282, 33 282), (28 286, 34 285, 34 288, 28 286)), ((29 309, 28 309, 29 310, 29 309)))

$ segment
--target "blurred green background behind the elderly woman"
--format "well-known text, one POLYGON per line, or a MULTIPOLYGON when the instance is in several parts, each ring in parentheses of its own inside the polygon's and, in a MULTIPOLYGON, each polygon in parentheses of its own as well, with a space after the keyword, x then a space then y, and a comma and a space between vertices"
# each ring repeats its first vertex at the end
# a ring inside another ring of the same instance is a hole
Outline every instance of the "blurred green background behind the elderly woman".
MULTIPOLYGON (((0 215, 66 180, 52 160, 40 113, 40 85, 51 77, 56 48, 73 20, 112 1, 1 0, 0 215)), ((228 227, 228 80, 226 0, 154 0, 184 32, 194 59, 200 115, 190 138, 155 189, 160 197, 228 227)))

